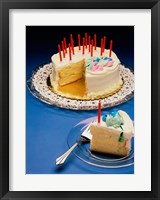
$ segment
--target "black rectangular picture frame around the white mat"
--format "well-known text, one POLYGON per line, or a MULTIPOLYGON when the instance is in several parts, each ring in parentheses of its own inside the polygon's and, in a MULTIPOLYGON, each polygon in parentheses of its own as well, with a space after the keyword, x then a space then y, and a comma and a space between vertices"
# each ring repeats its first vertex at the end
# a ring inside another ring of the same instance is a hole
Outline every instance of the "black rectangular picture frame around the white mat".
POLYGON ((160 199, 158 148, 158 67, 160 0, 0 0, 0 197, 2 199, 160 199), (18 192, 9 191, 9 9, 151 9, 151 191, 136 192, 18 192), (8 80, 8 81, 6 81, 8 80))

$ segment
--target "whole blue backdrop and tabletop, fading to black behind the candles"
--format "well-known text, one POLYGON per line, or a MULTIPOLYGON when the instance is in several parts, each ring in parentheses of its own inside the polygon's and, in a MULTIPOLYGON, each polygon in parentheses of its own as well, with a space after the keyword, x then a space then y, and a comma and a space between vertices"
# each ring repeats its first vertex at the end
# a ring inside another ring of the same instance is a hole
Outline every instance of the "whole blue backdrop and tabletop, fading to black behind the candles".
MULTIPOLYGON (((134 69, 133 26, 27 26, 26 27, 26 80, 38 66, 51 62, 57 53, 57 45, 63 37, 69 40, 70 33, 77 45, 77 34, 85 32, 93 37, 113 40, 113 51, 121 63, 134 69)), ((134 98, 114 108, 126 111, 134 120, 134 98)), ((102 114, 114 108, 103 109, 102 114)), ((88 165, 73 154, 64 166, 56 167, 55 159, 67 149, 67 135, 78 122, 97 115, 97 111, 74 111, 47 105, 33 97, 26 87, 26 173, 27 174, 95 174, 101 169, 88 165)), ((106 174, 132 174, 134 166, 120 169, 105 169, 106 174)))

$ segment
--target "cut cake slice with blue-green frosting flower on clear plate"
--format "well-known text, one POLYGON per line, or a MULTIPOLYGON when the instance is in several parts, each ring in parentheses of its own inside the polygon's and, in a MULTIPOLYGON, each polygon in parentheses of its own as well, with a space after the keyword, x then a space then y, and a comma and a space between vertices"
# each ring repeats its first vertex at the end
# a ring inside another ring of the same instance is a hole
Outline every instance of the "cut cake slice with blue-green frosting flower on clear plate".
POLYGON ((92 140, 91 151, 126 156, 131 150, 133 123, 122 110, 101 117, 99 122, 90 126, 92 140))

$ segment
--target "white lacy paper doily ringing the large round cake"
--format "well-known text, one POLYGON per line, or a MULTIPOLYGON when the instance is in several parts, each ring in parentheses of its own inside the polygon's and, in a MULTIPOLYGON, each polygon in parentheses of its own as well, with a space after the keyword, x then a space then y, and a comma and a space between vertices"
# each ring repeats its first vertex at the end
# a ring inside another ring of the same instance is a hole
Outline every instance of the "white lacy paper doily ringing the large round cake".
MULTIPOLYGON (((52 72, 52 63, 40 66, 27 81, 30 92, 39 100, 61 108, 73 110, 95 110, 99 100, 73 100, 53 93, 47 84, 52 72)), ((134 74, 124 66, 120 66, 120 74, 124 80, 122 88, 115 94, 101 99, 102 108, 122 104, 134 95, 134 74)))

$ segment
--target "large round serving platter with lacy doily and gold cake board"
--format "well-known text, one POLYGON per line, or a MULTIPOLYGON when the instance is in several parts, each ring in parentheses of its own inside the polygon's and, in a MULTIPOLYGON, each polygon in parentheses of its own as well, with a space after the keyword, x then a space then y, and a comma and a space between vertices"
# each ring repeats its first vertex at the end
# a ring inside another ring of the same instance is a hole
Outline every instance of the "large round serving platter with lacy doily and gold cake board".
POLYGON ((134 74, 129 68, 120 65, 123 84, 114 92, 90 99, 85 95, 84 80, 80 79, 55 91, 50 84, 52 63, 39 66, 27 81, 30 92, 39 100, 61 108, 73 110, 95 110, 101 100, 103 108, 113 107, 131 99, 134 95, 134 74), (77 91, 79 95, 77 95, 77 91))

